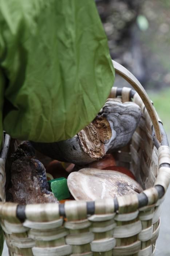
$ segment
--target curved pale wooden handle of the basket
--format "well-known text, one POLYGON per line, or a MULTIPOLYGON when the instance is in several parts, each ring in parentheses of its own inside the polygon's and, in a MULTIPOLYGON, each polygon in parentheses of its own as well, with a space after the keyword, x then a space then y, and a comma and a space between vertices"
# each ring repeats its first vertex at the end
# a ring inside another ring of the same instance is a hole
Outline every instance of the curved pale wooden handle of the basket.
POLYGON ((122 76, 122 78, 124 78, 127 82, 129 82, 131 84, 131 86, 133 86, 133 88, 137 91, 139 96, 141 97, 141 99, 147 109, 147 112, 151 118, 151 121, 152 121, 152 124, 154 127, 154 131, 155 131, 155 135, 156 135, 157 139, 159 140, 159 142, 161 143, 162 135, 161 135, 161 131, 159 128, 157 114, 155 112, 155 109, 154 109, 145 89, 143 88, 141 83, 139 83, 138 79, 135 78, 135 76, 133 74, 131 74, 131 72, 129 72, 126 68, 124 68, 122 65, 120 65, 119 63, 117 63, 114 60, 112 60, 112 63, 114 65, 116 74, 122 76))

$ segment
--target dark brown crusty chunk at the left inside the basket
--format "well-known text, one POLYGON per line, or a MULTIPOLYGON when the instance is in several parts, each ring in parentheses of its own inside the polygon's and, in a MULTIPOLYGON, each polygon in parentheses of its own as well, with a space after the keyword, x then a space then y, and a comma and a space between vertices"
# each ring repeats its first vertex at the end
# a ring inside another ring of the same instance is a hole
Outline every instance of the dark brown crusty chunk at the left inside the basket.
POLYGON ((12 155, 11 200, 19 204, 52 203, 57 199, 48 191, 46 170, 34 158, 34 150, 29 142, 19 145, 12 155))

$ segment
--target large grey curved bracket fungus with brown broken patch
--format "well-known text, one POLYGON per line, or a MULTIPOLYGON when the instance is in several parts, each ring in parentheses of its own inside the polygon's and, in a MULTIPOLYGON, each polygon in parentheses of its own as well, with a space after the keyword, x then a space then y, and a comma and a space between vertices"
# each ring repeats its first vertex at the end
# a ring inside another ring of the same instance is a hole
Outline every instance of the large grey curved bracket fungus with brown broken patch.
POLYGON ((96 118, 73 138, 32 144, 41 153, 59 161, 85 165, 125 146, 140 118, 141 109, 134 102, 108 99, 96 118))

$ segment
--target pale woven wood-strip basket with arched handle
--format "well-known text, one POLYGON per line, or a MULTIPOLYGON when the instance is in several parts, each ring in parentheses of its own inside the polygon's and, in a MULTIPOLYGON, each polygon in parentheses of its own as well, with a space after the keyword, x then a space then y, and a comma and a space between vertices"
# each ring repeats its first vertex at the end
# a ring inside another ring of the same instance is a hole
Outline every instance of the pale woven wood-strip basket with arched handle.
POLYGON ((113 64, 116 72, 130 82, 142 98, 126 87, 111 91, 110 97, 122 97, 123 102, 133 98, 142 110, 131 142, 116 153, 118 164, 129 168, 145 190, 139 195, 95 202, 73 200, 65 204, 26 206, 5 203, 5 160, 10 142, 9 135, 5 135, 0 158, 0 223, 9 255, 154 254, 160 205, 170 181, 169 145, 162 123, 141 84, 127 69, 114 61, 113 64))

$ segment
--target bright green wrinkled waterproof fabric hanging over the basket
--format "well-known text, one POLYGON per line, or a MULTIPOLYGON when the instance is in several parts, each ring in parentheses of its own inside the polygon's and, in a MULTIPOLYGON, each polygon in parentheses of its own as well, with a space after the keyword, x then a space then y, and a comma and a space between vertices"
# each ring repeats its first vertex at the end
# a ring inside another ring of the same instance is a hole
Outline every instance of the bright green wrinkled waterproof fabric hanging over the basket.
POLYGON ((0 0, 0 133, 71 138, 93 120, 113 82, 93 0, 0 0))

